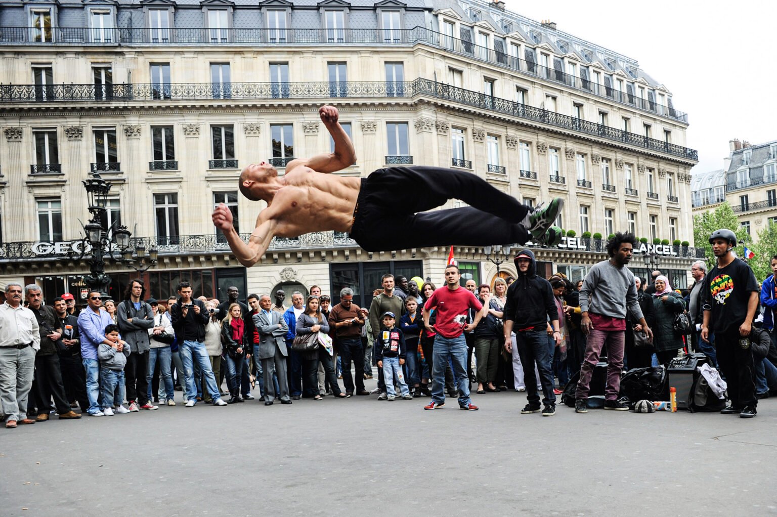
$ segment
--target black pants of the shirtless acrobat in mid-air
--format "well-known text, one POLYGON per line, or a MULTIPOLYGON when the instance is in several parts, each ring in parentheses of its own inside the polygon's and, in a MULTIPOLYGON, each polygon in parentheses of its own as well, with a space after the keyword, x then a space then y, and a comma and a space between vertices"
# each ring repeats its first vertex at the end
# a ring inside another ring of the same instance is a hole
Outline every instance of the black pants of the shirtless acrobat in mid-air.
POLYGON ((473 173, 388 167, 361 180, 350 237, 368 251, 523 244, 529 233, 519 223, 528 211, 528 206, 473 173), (469 207, 427 211, 449 199, 469 207))

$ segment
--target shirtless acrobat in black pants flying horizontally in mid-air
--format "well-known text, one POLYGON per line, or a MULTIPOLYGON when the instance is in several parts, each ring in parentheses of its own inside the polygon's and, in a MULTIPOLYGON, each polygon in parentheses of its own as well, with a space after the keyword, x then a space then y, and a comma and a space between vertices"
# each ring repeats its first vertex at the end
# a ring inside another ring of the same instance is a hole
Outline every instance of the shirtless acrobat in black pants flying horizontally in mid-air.
POLYGON ((561 229, 552 225, 563 205, 559 197, 532 209, 473 173, 440 167, 386 167, 366 178, 329 174, 353 165, 356 153, 337 121, 336 107, 323 106, 319 115, 335 142, 334 152, 294 159, 280 178, 267 162, 242 169, 242 194, 267 201, 247 244, 224 204, 213 212, 213 224, 244 266, 256 264, 275 236, 328 230, 348 232, 367 251, 560 242, 561 229), (469 207, 427 211, 449 199, 469 207))

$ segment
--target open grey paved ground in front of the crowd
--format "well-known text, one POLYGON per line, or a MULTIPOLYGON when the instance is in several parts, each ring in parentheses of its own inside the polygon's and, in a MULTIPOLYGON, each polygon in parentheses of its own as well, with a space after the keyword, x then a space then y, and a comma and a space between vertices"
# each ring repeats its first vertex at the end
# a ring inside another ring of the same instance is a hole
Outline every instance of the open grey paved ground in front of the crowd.
POLYGON ((0 429, 0 514, 777 515, 777 400, 744 420, 375 398, 0 429))

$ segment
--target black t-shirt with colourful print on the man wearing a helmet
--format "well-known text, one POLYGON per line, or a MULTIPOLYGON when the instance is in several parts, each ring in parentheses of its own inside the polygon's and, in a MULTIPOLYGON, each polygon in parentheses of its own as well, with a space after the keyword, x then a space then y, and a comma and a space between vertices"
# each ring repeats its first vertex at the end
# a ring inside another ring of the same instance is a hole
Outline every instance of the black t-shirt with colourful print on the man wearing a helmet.
POLYGON ((712 309, 712 330, 723 333, 744 323, 750 293, 758 292, 758 282, 750 266, 735 258, 726 267, 713 267, 704 282, 704 306, 712 309))

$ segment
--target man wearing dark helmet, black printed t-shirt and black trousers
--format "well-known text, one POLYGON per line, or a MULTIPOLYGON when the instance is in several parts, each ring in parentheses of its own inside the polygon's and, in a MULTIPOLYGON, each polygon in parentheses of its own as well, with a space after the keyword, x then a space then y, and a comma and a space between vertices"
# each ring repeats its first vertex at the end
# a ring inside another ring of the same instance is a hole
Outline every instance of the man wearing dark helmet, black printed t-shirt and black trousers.
POLYGON ((709 331, 715 333, 718 365, 728 384, 731 405, 724 414, 752 418, 758 400, 755 397, 755 366, 750 347, 750 330, 758 309, 758 282, 744 260, 732 252, 737 236, 729 229, 716 230, 709 236, 717 264, 709 271, 702 292, 702 339, 709 343, 709 331), (710 322, 713 323, 710 329, 710 322))

